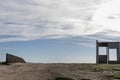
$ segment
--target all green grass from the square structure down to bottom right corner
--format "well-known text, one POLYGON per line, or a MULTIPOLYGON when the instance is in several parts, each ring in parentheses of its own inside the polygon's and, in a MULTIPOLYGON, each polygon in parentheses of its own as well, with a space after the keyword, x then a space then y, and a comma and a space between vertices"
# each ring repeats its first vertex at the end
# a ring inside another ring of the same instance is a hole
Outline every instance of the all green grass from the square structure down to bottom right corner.
MULTIPOLYGON (((83 70, 91 71, 112 71, 112 74, 106 74, 106 77, 113 79, 120 79, 120 65, 119 64, 84 64, 83 70)), ((82 69, 81 68, 81 69, 82 69)))

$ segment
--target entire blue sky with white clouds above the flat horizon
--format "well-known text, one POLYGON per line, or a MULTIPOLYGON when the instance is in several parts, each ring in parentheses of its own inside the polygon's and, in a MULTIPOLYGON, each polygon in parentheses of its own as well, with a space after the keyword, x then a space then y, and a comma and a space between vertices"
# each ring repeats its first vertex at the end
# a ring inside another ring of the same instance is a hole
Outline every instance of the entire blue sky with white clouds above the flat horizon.
POLYGON ((120 0, 0 0, 0 60, 95 63, 96 40, 120 41, 120 0))

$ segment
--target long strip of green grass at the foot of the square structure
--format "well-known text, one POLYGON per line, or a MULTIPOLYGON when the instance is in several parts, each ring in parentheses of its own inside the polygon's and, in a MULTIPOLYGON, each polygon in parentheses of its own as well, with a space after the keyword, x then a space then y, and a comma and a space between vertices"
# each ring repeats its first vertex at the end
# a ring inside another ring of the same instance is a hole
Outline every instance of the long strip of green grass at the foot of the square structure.
POLYGON ((90 71, 104 71, 104 70, 120 71, 120 64, 74 64, 71 65, 70 69, 90 71))

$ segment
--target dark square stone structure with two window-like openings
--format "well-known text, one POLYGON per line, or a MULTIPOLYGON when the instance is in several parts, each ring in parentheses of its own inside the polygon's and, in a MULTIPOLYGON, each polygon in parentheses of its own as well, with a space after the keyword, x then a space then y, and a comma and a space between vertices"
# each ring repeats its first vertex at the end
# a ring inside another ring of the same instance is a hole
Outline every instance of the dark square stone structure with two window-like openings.
POLYGON ((96 63, 98 64, 120 64, 120 42, 98 42, 96 40, 96 63), (106 48, 106 54, 99 53, 99 47, 106 48), (109 60, 110 49, 116 49, 117 60, 109 60))

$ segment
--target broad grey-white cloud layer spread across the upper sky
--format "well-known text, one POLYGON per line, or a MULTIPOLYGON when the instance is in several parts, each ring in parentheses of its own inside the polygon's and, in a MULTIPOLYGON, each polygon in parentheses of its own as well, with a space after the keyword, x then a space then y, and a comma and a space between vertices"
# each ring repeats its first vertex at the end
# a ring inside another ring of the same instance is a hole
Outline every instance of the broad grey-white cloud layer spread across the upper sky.
POLYGON ((115 15, 107 14, 116 7, 102 13, 112 2, 116 4, 114 0, 0 0, 0 42, 89 36, 108 29, 115 31, 112 37, 119 37, 119 10, 115 15), (110 22, 102 19, 117 21, 117 29, 105 27, 110 22))

